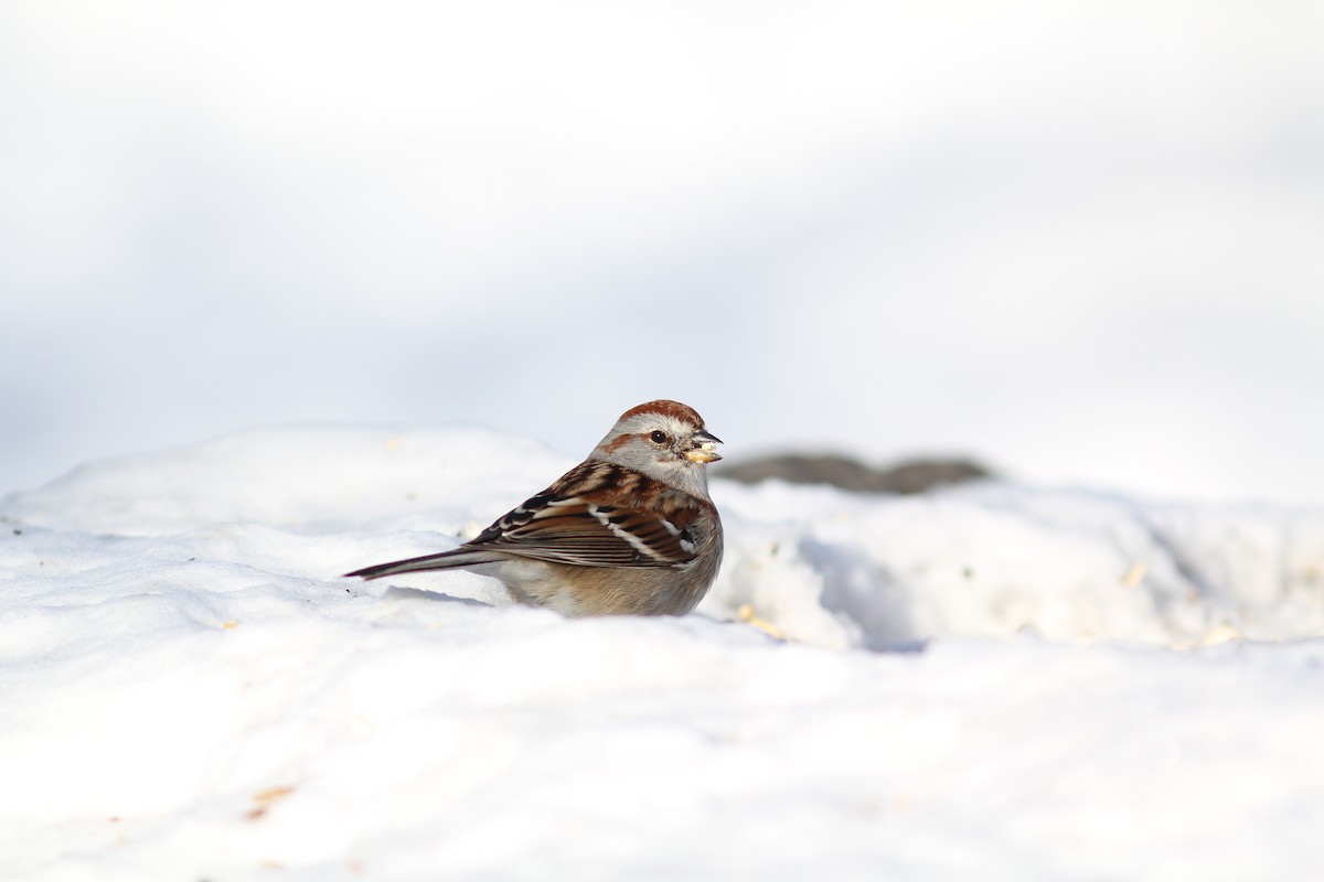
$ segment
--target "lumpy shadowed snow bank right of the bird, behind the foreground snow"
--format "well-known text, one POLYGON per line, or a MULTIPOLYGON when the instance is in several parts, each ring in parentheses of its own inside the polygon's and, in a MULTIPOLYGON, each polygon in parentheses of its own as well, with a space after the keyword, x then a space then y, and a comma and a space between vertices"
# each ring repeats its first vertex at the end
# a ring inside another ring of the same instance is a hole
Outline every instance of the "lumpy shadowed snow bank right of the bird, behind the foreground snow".
POLYGON ((733 553, 706 608, 788 636, 1192 645, 1324 632, 1324 514, 1145 504, 1008 484, 922 497, 720 487, 733 553))

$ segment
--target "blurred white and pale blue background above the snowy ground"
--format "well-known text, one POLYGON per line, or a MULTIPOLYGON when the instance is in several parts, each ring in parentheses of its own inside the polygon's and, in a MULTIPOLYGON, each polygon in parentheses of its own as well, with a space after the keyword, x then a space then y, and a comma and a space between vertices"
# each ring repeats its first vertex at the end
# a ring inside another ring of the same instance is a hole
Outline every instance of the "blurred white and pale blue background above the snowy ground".
POLYGON ((7 3, 0 492, 673 397, 732 459, 1324 504, 1321 9, 7 3))

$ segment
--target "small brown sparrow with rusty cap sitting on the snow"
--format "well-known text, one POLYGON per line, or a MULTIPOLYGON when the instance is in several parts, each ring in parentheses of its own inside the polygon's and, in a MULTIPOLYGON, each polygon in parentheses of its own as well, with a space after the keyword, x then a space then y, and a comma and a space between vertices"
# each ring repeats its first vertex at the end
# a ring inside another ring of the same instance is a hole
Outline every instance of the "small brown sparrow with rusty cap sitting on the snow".
POLYGON ((722 459, 703 418, 675 401, 625 411, 583 463, 457 549, 347 575, 462 569, 568 616, 685 615, 722 565, 722 520, 703 467, 722 459))

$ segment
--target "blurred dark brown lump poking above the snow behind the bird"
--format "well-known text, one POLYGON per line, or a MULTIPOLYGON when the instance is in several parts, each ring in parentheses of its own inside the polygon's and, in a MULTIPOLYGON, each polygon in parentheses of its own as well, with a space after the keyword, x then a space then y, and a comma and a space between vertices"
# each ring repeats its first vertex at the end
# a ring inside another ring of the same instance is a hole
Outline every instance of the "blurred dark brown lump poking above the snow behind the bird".
POLYGON ((790 484, 829 484, 863 493, 923 493, 932 487, 992 477, 990 472, 964 459, 914 459, 878 469, 835 454, 782 454, 749 459, 714 469, 714 477, 741 484, 779 479, 790 484))

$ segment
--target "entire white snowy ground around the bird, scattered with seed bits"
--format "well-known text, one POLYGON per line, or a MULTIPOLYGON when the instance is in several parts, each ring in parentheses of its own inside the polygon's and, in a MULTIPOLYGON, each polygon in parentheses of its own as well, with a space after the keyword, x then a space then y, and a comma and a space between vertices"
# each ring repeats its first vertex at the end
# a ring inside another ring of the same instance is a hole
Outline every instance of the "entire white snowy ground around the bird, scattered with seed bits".
POLYGON ((0 878, 1324 866, 1324 512, 718 483, 727 562, 683 619, 336 575, 572 461, 302 427, 5 497, 0 878))

